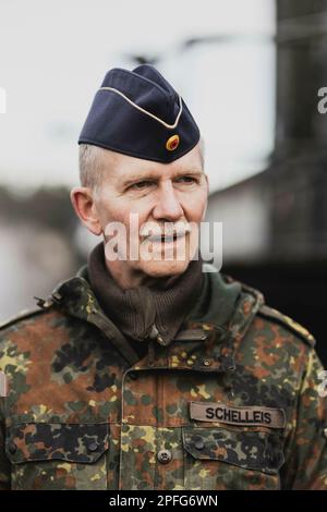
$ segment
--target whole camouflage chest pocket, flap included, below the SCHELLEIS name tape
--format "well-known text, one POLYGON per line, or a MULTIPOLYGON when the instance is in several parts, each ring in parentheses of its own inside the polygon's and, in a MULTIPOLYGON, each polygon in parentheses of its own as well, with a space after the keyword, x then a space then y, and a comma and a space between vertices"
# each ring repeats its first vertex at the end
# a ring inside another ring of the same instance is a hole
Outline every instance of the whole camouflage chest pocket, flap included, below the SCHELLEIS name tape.
POLYGON ((284 462, 278 432, 183 427, 185 489, 279 489, 284 462))

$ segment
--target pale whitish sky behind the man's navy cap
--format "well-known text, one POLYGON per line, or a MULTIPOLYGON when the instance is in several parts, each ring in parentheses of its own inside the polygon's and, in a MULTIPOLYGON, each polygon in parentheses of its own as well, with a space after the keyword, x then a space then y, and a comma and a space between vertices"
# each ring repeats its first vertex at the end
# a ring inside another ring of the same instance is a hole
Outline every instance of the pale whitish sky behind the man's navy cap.
POLYGON ((211 190, 259 171, 274 144, 275 49, 256 38, 274 34, 274 0, 0 0, 0 183, 74 184, 93 97, 133 54, 161 56, 205 137, 211 190), (223 34, 242 39, 182 51, 223 34))

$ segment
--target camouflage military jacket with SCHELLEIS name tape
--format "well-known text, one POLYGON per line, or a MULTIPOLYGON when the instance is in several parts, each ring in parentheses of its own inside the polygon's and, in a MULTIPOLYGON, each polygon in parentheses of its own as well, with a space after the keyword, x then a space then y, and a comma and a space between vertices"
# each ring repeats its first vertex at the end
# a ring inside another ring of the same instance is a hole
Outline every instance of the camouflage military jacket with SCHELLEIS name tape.
POLYGON ((313 338, 257 291, 205 282, 141 359, 83 271, 1 327, 1 489, 327 489, 313 338))

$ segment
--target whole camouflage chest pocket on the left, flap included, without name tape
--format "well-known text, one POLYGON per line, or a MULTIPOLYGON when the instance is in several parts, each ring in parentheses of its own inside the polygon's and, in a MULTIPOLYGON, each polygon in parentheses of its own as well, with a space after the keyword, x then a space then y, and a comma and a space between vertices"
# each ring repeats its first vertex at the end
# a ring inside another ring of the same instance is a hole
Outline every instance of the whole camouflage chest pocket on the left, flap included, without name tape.
POLYGON ((13 489, 106 489, 107 424, 26 423, 8 428, 13 489))

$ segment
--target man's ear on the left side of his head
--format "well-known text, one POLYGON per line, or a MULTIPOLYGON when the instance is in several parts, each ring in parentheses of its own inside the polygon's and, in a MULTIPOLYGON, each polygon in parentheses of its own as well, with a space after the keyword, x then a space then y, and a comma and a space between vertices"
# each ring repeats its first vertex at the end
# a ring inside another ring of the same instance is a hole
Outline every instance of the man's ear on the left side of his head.
POLYGON ((71 191, 71 202, 77 217, 80 217, 88 231, 97 236, 101 234, 102 229, 97 216, 92 190, 87 186, 74 186, 71 191))

